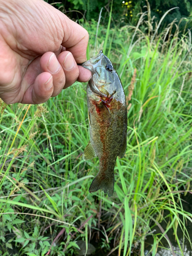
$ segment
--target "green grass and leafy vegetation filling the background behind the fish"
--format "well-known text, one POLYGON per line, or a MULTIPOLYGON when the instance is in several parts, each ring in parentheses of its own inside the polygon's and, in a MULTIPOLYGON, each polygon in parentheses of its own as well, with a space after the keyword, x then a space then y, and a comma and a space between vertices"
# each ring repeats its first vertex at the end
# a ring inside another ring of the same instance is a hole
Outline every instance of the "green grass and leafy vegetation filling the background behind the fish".
POLYGON ((88 59, 103 49, 114 63, 127 99, 127 151, 117 159, 114 195, 89 194, 99 162, 82 160, 89 141, 86 84, 76 82, 40 105, 1 101, 0 254, 77 255, 84 241, 96 255, 155 256, 160 247, 187 255, 191 2, 49 3, 89 31, 88 59))

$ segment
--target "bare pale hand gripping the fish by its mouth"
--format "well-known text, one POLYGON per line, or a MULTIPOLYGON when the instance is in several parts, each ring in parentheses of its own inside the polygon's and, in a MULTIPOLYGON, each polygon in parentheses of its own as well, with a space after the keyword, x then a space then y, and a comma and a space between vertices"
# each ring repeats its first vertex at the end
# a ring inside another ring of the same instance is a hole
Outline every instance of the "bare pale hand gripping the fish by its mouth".
POLYGON ((86 82, 88 32, 42 0, 0 0, 0 98, 38 104, 86 82))

